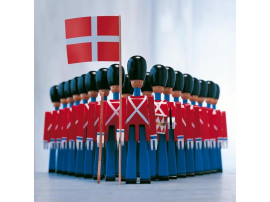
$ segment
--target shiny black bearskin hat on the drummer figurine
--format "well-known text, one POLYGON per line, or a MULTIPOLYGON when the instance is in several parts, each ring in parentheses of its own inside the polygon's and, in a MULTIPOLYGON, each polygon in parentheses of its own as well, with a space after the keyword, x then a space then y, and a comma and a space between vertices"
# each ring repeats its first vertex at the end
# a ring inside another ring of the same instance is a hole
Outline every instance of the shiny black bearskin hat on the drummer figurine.
POLYGON ((163 65, 154 65, 150 70, 150 81, 152 86, 166 87, 168 71, 163 65))

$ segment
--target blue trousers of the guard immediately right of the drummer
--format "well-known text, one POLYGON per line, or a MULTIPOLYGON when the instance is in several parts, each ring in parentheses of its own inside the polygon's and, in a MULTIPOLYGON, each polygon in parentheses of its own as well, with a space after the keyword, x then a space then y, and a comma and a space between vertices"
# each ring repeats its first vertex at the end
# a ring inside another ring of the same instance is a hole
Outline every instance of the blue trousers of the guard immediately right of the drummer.
POLYGON ((176 152, 175 152, 174 130, 169 129, 169 142, 168 142, 168 166, 170 179, 177 178, 176 168, 176 152))

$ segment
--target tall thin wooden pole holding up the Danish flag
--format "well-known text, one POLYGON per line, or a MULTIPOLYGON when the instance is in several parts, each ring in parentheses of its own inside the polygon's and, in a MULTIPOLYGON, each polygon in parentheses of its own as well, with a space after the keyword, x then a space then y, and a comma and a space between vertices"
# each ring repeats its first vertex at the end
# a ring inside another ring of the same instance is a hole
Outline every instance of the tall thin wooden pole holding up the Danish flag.
POLYGON ((119 185, 121 185, 121 154, 122 154, 122 50, 121 50, 121 15, 119 15, 119 94, 120 94, 120 112, 119 112, 119 185))

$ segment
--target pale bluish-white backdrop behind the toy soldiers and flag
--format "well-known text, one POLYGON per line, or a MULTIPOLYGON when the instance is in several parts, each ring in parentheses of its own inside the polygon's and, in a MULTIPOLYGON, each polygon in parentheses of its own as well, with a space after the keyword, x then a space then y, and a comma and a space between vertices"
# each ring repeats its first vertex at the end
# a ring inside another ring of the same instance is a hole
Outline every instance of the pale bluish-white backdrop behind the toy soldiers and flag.
POLYGON ((48 170, 43 150, 49 88, 110 63, 67 64, 66 18, 122 15, 123 65, 142 55, 220 85, 218 109, 227 111, 229 148, 224 171, 235 171, 235 0, 35 0, 35 171, 48 170))

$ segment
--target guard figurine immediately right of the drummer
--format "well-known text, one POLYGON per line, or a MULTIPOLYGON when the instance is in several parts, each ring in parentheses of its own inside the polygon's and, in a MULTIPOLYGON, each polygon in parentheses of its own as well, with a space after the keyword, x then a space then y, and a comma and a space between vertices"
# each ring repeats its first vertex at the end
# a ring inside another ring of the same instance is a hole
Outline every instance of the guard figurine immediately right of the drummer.
POLYGON ((168 79, 166 87, 164 89, 164 98, 168 102, 168 118, 167 118, 167 129, 169 132, 169 141, 168 141, 168 166, 169 166, 169 178, 177 178, 177 167, 176 167, 176 148, 174 140, 174 126, 175 126, 175 106, 174 102, 170 102, 170 95, 172 94, 173 87, 175 85, 175 72, 173 68, 166 67, 168 72, 168 79))

